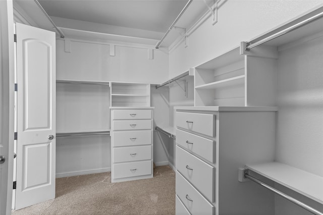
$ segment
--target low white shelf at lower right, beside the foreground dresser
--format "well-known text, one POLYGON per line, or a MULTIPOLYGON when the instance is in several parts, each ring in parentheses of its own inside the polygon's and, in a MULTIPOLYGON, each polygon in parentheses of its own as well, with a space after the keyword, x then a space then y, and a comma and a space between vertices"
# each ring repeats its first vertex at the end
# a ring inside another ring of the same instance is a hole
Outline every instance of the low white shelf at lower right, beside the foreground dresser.
POLYGON ((323 204, 323 177, 279 162, 246 165, 246 168, 323 204))

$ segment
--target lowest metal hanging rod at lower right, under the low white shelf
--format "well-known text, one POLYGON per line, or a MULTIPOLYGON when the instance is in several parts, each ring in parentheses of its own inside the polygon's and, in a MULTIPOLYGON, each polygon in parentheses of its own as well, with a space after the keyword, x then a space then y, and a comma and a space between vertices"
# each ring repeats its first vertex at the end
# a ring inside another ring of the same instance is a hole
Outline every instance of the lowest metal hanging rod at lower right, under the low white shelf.
POLYGON ((315 214, 315 215, 323 215, 323 213, 322 213, 322 212, 320 212, 320 211, 318 211, 318 210, 316 210, 316 209, 312 208, 311 206, 308 206, 307 204, 304 204, 303 202, 301 202, 301 201, 299 201, 299 200, 297 200, 297 199, 295 199, 295 198, 293 198, 293 197, 291 197, 291 196, 287 195, 286 193, 283 193, 282 191, 279 191, 279 190, 277 190, 276 188, 274 188, 274 187, 272 187, 272 186, 270 186, 270 185, 267 185, 267 184, 263 183, 262 181, 259 181, 258 179, 256 179, 256 178, 254 178, 254 177, 250 176, 250 175, 248 174, 248 172, 249 172, 249 170, 248 170, 248 169, 245 169, 245 170, 244 170, 244 177, 245 177, 245 178, 250 179, 251 181, 253 181, 253 182, 255 182, 255 183, 257 183, 257 184, 259 184, 259 185, 261 185, 261 186, 263 186, 263 187, 265 187, 265 188, 267 188, 268 190, 273 191, 274 193, 276 193, 276 194, 278 194, 278 195, 280 195, 280 196, 282 196, 282 197, 286 198, 287 200, 289 200, 289 201, 291 201, 291 202, 293 202, 293 203, 297 204, 298 206, 300 206, 300 207, 304 208, 305 210, 307 210, 307 211, 309 211, 309 212, 311 212, 311 213, 313 213, 313 214, 315 214))

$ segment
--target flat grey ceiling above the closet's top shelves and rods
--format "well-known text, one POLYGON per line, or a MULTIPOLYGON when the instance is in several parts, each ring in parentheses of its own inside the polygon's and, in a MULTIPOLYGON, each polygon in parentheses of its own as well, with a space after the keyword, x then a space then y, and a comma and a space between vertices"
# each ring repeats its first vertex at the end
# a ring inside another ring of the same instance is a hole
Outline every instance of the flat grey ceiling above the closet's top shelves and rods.
POLYGON ((166 32, 187 0, 39 1, 49 16, 166 32))

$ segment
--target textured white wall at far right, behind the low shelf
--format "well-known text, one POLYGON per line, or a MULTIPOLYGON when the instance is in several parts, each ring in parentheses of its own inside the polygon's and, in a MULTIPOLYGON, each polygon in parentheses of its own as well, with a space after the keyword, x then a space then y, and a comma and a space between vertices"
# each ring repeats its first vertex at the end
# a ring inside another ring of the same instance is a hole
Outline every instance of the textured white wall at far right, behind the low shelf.
MULTIPOLYGON (((323 177, 323 37, 280 52, 276 160, 323 177)), ((310 183, 310 182, 305 182, 310 183)), ((277 185, 323 211, 318 204, 277 185)), ((311 214, 275 197, 276 215, 311 214)))

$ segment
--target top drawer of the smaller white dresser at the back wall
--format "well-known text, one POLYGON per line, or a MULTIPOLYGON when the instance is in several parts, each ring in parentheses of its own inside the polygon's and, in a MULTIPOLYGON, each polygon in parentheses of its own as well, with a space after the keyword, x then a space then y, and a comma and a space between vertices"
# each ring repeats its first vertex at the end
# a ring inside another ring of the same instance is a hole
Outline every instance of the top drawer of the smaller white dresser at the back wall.
POLYGON ((151 110, 114 110, 114 120, 151 119, 151 110))

